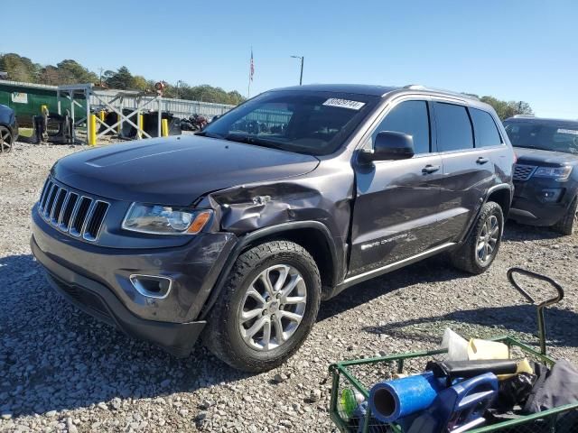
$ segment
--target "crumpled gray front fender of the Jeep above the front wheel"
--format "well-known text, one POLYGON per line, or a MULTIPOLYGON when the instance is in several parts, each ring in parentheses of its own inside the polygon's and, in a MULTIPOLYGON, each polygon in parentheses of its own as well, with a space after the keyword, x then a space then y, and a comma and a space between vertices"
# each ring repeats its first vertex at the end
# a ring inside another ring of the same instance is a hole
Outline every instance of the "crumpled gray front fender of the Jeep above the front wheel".
POLYGON ((347 263, 353 185, 350 160, 327 159, 303 176, 214 191, 197 207, 214 209, 219 230, 239 237, 284 223, 321 222, 338 250, 341 274, 347 263))

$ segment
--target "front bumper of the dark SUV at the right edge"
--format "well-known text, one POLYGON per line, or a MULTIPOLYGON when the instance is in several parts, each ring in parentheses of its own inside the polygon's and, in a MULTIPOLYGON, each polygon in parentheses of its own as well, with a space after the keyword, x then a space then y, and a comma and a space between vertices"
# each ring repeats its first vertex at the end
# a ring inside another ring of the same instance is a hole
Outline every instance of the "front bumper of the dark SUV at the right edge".
POLYGON ((564 217, 575 196, 570 186, 553 180, 515 181, 508 217, 522 224, 553 226, 564 217), (555 200, 546 200, 545 190, 557 190, 555 200))

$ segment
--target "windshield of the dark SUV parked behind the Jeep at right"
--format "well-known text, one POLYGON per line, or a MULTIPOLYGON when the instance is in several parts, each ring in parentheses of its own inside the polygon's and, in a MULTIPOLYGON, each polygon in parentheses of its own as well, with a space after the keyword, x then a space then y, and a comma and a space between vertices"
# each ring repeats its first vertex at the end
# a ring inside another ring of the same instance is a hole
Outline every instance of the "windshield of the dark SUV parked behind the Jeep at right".
POLYGON ((515 147, 578 153, 578 123, 538 123, 509 120, 504 123, 504 126, 509 141, 515 147))

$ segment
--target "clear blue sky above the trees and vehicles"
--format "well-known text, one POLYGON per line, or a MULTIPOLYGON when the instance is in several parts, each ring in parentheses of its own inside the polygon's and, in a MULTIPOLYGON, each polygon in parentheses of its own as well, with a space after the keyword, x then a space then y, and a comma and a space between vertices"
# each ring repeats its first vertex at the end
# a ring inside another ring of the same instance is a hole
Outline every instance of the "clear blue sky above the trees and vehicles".
POLYGON ((125 65, 251 95, 303 83, 424 84, 578 118, 578 0, 2 2, 0 52, 125 65), (49 6, 50 5, 50 6, 49 6))

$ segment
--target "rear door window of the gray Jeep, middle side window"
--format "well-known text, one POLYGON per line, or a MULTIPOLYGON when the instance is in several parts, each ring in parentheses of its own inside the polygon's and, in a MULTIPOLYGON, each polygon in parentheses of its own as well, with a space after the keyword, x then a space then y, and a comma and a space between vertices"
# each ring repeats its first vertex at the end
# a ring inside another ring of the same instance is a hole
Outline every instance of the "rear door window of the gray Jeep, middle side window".
POLYGON ((434 102, 437 147, 440 152, 473 148, 471 121, 465 106, 434 102))

